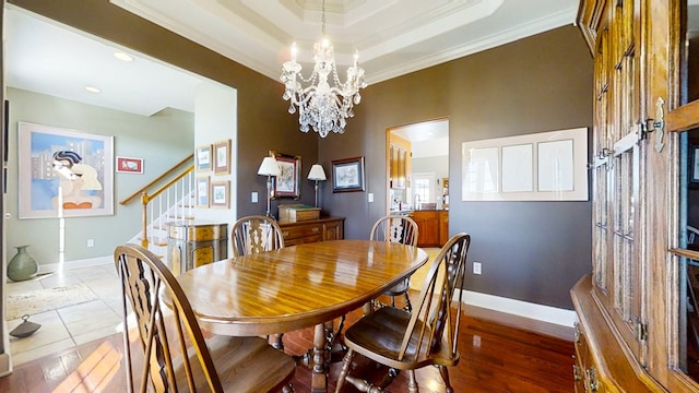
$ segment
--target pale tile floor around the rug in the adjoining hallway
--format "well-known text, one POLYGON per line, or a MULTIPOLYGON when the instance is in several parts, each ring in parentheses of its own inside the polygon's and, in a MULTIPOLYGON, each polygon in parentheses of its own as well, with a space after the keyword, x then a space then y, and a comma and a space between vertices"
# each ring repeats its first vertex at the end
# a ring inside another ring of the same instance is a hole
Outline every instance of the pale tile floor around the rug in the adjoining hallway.
MULTIPOLYGON (((49 273, 19 283, 8 282, 5 289, 8 294, 20 294, 78 282, 93 290, 97 299, 33 314, 29 321, 42 324, 36 333, 24 338, 10 336, 14 366, 122 331, 121 288, 114 264, 49 273)), ((8 332, 20 323, 22 319, 8 321, 8 332)))

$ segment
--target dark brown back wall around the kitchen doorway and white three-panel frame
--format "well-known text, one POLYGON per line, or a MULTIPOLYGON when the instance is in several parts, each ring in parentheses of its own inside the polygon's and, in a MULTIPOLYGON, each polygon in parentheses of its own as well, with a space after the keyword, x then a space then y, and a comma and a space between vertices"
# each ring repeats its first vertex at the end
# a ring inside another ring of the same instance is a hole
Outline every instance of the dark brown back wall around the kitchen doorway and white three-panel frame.
MULTIPOLYGON (((366 88, 344 135, 320 143, 320 160, 364 155, 367 192, 323 206, 364 237, 386 212, 386 129, 449 117, 450 234, 472 235, 483 263, 467 289, 572 309, 568 290, 591 270, 590 202, 462 202, 461 143, 592 124, 592 58, 573 26, 494 48, 366 88)), ((591 141, 590 141, 591 142, 591 141)))

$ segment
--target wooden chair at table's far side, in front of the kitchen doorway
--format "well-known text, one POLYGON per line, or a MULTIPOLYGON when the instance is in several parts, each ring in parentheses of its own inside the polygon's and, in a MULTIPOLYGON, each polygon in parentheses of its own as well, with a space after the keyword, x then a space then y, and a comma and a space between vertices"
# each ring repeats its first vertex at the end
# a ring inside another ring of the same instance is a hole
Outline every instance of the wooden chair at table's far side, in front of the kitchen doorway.
MULTIPOLYGON (((413 218, 403 215, 388 215, 379 218, 374 224, 369 239, 417 246, 418 235, 419 228, 413 218)), ((383 295, 391 297, 391 307, 395 307, 396 296, 404 296, 405 310, 412 311, 413 307, 411 305, 410 296, 407 295, 410 288, 411 278, 407 277, 389 290, 384 291, 383 295)))

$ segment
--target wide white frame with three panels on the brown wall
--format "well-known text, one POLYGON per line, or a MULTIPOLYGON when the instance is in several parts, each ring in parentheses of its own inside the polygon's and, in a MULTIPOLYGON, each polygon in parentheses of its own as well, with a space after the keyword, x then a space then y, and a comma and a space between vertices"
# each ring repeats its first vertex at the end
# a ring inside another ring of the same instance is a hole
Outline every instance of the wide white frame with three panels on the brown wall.
POLYGON ((462 201, 587 201, 588 129, 463 142, 462 201))

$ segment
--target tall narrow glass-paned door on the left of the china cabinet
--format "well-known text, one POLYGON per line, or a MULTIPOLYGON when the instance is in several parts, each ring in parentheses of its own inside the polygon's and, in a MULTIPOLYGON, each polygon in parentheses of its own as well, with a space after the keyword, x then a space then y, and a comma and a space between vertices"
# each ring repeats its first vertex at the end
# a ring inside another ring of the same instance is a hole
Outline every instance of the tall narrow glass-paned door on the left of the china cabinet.
POLYGON ((643 312, 643 261, 640 258, 643 144, 638 138, 640 95, 635 2, 607 2, 609 22, 600 31, 593 131, 593 279, 597 298, 637 359, 644 364, 639 331, 643 312))

